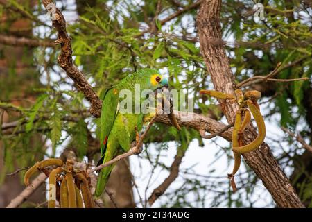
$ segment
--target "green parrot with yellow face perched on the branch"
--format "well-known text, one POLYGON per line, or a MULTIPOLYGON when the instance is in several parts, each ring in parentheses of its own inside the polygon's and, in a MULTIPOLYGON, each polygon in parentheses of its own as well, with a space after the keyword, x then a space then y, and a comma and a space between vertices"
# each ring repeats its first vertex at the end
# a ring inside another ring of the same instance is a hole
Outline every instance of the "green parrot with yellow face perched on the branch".
MULTIPOLYGON (((128 113, 120 112, 119 109, 122 101, 119 98, 119 92, 123 89, 128 89, 132 92, 132 95, 135 95, 135 84, 139 84, 139 95, 141 95, 144 89, 156 91, 162 87, 168 87, 168 79, 164 78, 155 69, 142 69, 126 76, 118 84, 113 85, 104 92, 101 111, 101 159, 98 165, 129 151, 137 133, 142 129, 144 113, 141 110, 128 113)), ((144 100, 146 98, 139 98, 139 104, 144 100)), ((135 101, 133 102, 133 110, 135 110, 134 103, 135 101)), ((103 193, 114 165, 104 167, 98 174, 98 182, 94 193, 96 198, 103 193)))

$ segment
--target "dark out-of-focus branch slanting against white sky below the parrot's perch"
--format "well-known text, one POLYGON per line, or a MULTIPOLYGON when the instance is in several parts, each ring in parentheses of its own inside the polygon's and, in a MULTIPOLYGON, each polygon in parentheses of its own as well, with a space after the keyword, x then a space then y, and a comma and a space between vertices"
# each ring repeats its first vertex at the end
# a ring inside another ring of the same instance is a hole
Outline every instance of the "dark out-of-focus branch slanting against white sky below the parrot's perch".
POLYGON ((159 185, 157 188, 154 189, 153 193, 148 198, 148 204, 150 206, 152 206, 153 203, 155 203, 155 201, 159 198, 159 196, 162 196, 162 194, 164 194, 166 189, 168 189, 171 183, 173 183, 173 181, 175 181, 177 176, 179 176, 179 167, 184 155, 185 151, 182 151, 181 153, 181 151, 177 149, 177 154, 175 155, 173 163, 171 164, 170 173, 168 177, 162 182, 161 185, 159 185))

